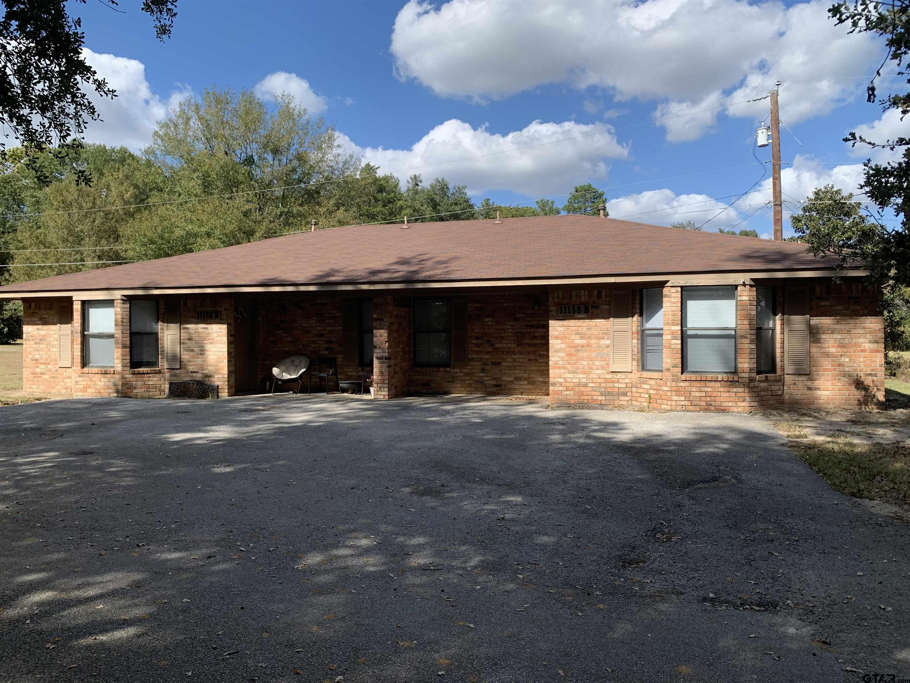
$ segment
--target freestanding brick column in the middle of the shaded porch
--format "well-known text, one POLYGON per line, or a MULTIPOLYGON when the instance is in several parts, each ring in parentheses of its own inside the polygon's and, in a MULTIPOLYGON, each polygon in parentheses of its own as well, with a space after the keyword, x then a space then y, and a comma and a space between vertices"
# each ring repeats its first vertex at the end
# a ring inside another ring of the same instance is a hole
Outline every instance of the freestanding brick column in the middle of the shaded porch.
POLYGON ((392 297, 373 298, 373 394, 396 398, 410 383, 410 310, 392 297))

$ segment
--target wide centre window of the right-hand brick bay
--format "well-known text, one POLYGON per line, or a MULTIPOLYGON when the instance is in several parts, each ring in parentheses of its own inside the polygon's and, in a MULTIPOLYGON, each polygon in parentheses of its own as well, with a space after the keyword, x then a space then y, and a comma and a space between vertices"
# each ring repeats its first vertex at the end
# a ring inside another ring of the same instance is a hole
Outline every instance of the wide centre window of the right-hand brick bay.
POLYGON ((682 288, 682 372, 736 372, 736 288, 682 288))

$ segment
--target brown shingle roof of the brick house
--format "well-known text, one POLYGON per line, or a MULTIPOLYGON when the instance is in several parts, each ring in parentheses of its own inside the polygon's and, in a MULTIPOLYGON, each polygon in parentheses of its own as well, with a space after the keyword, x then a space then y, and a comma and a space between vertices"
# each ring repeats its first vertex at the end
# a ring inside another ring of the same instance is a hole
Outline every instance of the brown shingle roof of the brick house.
POLYGON ((588 216, 350 226, 0 287, 0 293, 818 270, 805 245, 588 216))

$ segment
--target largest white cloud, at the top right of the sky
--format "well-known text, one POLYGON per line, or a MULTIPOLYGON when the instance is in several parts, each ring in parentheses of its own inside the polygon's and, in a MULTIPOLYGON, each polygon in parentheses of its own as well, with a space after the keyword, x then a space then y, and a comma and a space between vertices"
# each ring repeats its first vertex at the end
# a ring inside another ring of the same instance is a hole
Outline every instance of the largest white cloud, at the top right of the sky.
MULTIPOLYGON (((617 100, 697 110, 752 99, 777 79, 781 116, 793 125, 854 97, 881 59, 868 34, 850 35, 827 16, 826 0, 785 6, 748 0, 410 0, 395 20, 395 72, 442 97, 509 97, 552 83, 612 90, 617 100), (508 26, 508 30, 503 30, 508 26), (612 26, 595 39, 591 26, 612 26), (452 40, 451 36, 458 36, 452 40)), ((767 101, 732 116, 767 112, 767 101)), ((672 139, 694 139, 716 113, 667 123, 672 139)))

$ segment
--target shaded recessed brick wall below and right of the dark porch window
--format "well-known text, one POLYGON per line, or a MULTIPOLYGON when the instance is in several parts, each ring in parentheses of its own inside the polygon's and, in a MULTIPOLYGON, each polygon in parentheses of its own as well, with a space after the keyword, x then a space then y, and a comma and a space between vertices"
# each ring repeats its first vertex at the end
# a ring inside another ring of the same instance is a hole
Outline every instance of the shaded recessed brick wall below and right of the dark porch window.
MULTIPOLYGON (((545 396, 549 385, 546 294, 468 297, 468 364, 410 369, 409 392, 545 396)), ((410 358, 410 321, 402 325, 410 358)))

